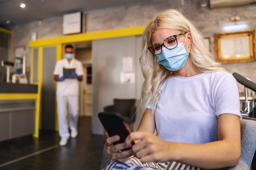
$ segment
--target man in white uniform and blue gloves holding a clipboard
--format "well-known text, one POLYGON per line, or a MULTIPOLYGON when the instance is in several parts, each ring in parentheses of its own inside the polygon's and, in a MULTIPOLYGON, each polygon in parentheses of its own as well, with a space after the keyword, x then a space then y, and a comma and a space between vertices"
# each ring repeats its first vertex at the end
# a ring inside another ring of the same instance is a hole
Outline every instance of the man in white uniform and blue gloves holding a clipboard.
POLYGON ((56 101, 58 113, 58 128, 61 137, 60 146, 65 146, 71 137, 77 136, 79 119, 79 81, 83 80, 83 64, 74 59, 74 47, 65 46, 65 58, 59 60, 54 68, 54 80, 57 81, 56 101), (68 108, 68 109, 67 109, 68 108), (70 116, 68 125, 67 113, 70 116))

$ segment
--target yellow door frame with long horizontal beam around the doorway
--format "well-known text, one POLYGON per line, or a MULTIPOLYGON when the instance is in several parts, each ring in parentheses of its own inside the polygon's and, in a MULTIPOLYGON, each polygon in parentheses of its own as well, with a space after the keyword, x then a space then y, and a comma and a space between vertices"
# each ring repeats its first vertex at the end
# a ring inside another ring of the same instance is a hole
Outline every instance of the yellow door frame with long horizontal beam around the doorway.
MULTIPOLYGON (((41 115, 41 88, 42 88, 42 73, 43 73, 43 48, 47 46, 56 46, 56 61, 61 60, 63 57, 63 44, 76 44, 76 43, 86 43, 92 42, 93 40, 102 40, 109 38, 120 38, 127 36, 142 35, 145 26, 137 26, 132 28, 124 29, 113 29, 107 31, 97 31, 90 33, 79 33, 73 35, 64 35, 55 38, 46 38, 36 41, 29 41, 29 47, 31 48, 30 56, 30 82, 31 84, 38 85, 38 95, 37 95, 37 108, 36 108, 36 123, 35 123, 35 134, 34 137, 39 136, 40 127, 40 115, 41 115), (38 82, 33 82, 33 58, 34 49, 38 48, 38 82)), ((55 104, 56 106, 56 104, 55 104)), ((58 130, 58 118, 57 111, 55 110, 55 129, 58 130)))

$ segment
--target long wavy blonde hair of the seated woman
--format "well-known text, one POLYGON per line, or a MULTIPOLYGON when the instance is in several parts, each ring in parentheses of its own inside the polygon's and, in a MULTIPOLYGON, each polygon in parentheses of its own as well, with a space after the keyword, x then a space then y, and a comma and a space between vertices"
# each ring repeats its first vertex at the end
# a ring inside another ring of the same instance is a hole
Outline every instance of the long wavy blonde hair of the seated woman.
MULTIPOLYGON (((161 95, 161 84, 173 74, 172 71, 169 71, 164 68, 164 66, 158 64, 156 57, 148 50, 148 46, 152 44, 152 32, 159 28, 169 28, 180 30, 182 32, 190 31, 193 41, 189 55, 191 58, 191 65, 195 71, 225 71, 220 63, 213 59, 212 54, 204 44, 204 36, 192 22, 182 15, 181 12, 176 9, 168 9, 158 13, 150 20, 142 35, 142 54, 139 58, 141 71, 144 76, 140 100, 140 106, 143 108, 142 113, 144 113, 148 105, 152 108, 156 107, 161 95)), ((153 113, 154 110, 155 109, 152 110, 153 113)))

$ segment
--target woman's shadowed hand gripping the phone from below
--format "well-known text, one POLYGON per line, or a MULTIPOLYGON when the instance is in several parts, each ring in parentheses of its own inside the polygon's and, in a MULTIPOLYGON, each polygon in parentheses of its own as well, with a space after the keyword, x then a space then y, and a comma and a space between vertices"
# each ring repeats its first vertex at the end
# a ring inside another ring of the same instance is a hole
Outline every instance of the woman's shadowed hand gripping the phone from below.
POLYGON ((126 145, 126 143, 121 143, 121 144, 116 144, 114 145, 114 142, 119 141, 120 137, 118 135, 108 137, 106 139, 106 148, 107 148, 107 153, 108 155, 111 155, 112 159, 115 159, 120 162, 126 161, 131 155, 132 155, 132 150, 124 150, 126 148, 130 148, 132 144, 126 145))

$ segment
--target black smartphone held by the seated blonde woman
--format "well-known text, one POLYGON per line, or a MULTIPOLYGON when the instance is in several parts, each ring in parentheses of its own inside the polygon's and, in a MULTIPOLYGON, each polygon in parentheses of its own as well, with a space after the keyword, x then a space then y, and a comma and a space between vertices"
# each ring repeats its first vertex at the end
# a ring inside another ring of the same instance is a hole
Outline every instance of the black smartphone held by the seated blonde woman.
MULTIPOLYGON (((110 113, 110 112, 100 112, 98 114, 99 120, 101 124, 108 132, 108 135, 114 136, 119 135, 120 140, 115 142, 115 144, 124 143, 126 137, 130 134, 126 123, 124 122, 123 117, 118 113, 110 113)), ((132 145, 134 142, 132 141, 132 145)), ((124 149, 128 150, 130 148, 124 149)))

